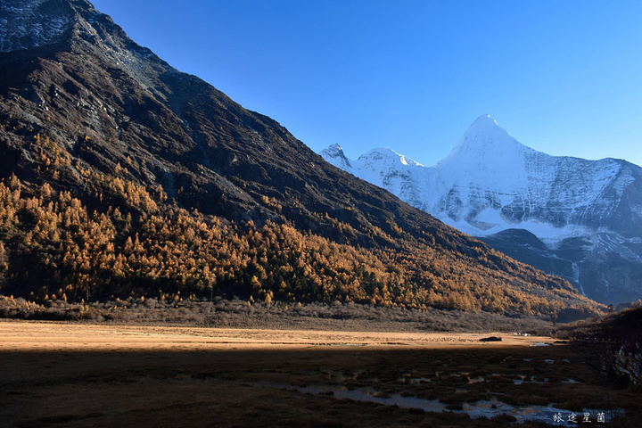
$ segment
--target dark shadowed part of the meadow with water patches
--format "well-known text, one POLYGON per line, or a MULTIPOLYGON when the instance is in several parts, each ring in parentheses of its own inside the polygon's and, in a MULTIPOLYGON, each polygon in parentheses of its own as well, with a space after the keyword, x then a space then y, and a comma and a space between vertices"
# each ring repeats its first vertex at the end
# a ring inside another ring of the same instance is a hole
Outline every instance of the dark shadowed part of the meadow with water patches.
POLYGON ((565 345, 501 344, 4 352, 0 400, 21 427, 547 426, 551 408, 564 422, 589 409, 594 424, 604 412, 607 425, 636 426, 639 388, 608 387, 581 358, 565 345))

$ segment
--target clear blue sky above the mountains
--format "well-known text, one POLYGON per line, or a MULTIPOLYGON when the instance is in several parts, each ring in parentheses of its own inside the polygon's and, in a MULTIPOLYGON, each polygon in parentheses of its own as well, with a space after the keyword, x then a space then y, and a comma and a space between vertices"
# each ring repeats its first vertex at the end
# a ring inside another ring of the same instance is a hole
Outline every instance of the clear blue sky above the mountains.
POLYGON ((488 113, 541 152, 642 165, 642 2, 93 0, 319 152, 430 165, 488 113))

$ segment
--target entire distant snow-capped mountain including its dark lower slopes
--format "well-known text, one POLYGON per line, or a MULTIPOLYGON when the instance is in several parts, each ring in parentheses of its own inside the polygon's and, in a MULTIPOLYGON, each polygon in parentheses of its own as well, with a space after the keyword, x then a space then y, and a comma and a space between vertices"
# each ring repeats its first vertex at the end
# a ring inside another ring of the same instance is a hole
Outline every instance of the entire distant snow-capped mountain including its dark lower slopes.
POLYGON ((390 149, 356 161, 337 144, 320 154, 515 259, 572 280, 588 297, 605 303, 642 297, 637 165, 537 152, 488 115, 431 167, 390 149))

